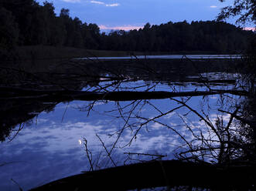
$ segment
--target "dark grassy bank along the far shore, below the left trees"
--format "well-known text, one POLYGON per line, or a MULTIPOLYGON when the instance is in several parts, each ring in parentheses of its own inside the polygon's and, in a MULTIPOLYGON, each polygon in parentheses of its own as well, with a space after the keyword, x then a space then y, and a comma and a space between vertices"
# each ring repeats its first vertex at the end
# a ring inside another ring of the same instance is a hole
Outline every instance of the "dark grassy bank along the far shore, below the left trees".
MULTIPOLYGON (((125 52, 125 51, 104 51, 104 50, 87 50, 87 49, 76 49, 71 47, 55 47, 55 46, 46 46, 46 45, 33 45, 33 46, 19 46, 16 47, 14 52, 11 52, 13 57, 9 61, 2 62, 2 76, 5 76, 5 70, 12 72, 29 72, 36 74, 39 72, 70 72, 70 69, 73 69, 74 62, 70 62, 73 58, 81 57, 121 57, 128 55, 191 55, 191 54, 213 54, 214 52, 125 52)), ((10 54, 10 55, 11 55, 10 54)), ((217 52, 215 52, 217 54, 217 52)), ((83 64, 86 62, 96 62, 96 61, 83 61, 83 64)), ((126 62, 124 60, 120 61, 111 61, 118 62, 118 64, 126 62)), ((129 61, 130 62, 130 61, 129 61)), ((133 61, 135 62, 135 61, 133 61)), ((144 64, 150 63, 176 63, 177 60, 166 59, 152 59, 145 61, 136 62, 136 65, 143 62, 144 64)), ((210 62, 213 62, 210 61, 210 62)), ((220 61, 217 61, 220 62, 220 61)), ((80 62, 80 64, 82 64, 80 62)), ((191 64, 191 63, 190 63, 191 64)), ((15 73, 16 73, 15 72, 15 73)), ((10 72, 7 72, 10 73, 10 72)), ((5 76, 6 77, 6 76, 5 76)), ((4 78, 9 79, 9 78, 4 78)), ((6 81, 6 80, 3 80, 6 81)))

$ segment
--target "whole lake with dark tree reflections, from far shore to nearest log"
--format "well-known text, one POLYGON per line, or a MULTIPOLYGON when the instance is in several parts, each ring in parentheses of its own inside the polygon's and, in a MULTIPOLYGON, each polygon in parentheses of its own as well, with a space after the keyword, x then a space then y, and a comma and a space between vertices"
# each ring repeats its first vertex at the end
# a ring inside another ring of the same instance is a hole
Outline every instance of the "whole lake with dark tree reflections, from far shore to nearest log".
MULTIPOLYGON (((147 56, 167 58, 182 57, 147 56)), ((72 75, 51 75, 62 79, 37 84, 37 92, 34 85, 31 91, 6 90, 1 98, 0 190, 32 189, 82 171, 155 159, 196 157, 219 163, 220 139, 246 137, 230 118, 244 104, 243 75, 234 66, 224 69, 227 64, 78 61, 70 63, 77 68, 72 75)), ((232 150, 234 156, 238 150, 232 150)))

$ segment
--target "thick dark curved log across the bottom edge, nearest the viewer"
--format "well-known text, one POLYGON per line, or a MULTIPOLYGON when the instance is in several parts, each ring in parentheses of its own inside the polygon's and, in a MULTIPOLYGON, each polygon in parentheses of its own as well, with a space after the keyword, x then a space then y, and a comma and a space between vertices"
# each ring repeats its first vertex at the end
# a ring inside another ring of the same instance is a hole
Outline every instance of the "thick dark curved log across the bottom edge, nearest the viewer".
POLYGON ((217 166, 169 160, 82 173, 31 190, 128 190, 160 186, 246 190, 255 179, 255 166, 217 166))

